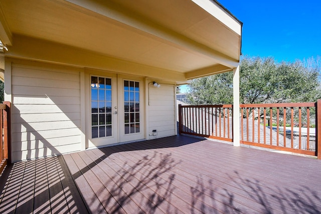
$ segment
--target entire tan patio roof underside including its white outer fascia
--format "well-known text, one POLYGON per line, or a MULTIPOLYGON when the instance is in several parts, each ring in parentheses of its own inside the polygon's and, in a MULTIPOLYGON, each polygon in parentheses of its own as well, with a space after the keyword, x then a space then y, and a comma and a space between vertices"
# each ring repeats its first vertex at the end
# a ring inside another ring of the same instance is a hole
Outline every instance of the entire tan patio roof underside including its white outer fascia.
POLYGON ((216 1, 0 0, 3 56, 177 84, 230 71, 242 23, 216 1))

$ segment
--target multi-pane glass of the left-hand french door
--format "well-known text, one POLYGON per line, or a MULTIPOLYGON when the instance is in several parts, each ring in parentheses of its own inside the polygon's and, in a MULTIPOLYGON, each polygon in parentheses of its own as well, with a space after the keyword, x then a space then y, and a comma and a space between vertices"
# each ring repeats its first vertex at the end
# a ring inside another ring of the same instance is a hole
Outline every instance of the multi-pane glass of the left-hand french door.
POLYGON ((91 76, 91 137, 112 136, 111 79, 91 76))

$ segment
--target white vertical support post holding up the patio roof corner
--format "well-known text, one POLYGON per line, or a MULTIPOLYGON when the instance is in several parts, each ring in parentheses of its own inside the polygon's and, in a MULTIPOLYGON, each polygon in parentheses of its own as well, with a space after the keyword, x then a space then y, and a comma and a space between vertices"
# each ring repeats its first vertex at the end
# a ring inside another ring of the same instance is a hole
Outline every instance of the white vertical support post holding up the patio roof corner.
POLYGON ((233 145, 240 146, 240 66, 233 69, 233 145))

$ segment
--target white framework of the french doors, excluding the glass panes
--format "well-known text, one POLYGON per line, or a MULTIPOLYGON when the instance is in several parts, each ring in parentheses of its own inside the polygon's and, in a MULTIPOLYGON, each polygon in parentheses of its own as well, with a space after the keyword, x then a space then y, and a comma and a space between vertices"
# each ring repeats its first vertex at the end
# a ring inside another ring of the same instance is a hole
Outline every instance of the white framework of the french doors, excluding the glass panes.
POLYGON ((134 142, 145 139, 145 80, 143 77, 118 75, 112 72, 85 69, 85 148, 97 148, 107 145, 134 142), (92 139, 91 123, 91 76, 111 78, 112 84, 112 130, 110 137, 92 139), (139 82, 139 133, 124 134, 124 80, 139 82), (115 114, 117 112, 117 114, 115 114))

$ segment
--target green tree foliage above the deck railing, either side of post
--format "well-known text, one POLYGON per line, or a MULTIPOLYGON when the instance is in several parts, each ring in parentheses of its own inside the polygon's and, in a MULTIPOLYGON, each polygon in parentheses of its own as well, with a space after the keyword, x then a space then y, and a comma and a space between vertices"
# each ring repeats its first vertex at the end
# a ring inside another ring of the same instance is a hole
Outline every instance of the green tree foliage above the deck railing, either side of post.
MULTIPOLYGON (((276 62, 243 57, 240 62, 240 102, 309 102, 321 97, 320 63, 310 60, 276 62)), ((233 103, 233 72, 194 79, 188 99, 193 104, 233 103)))

